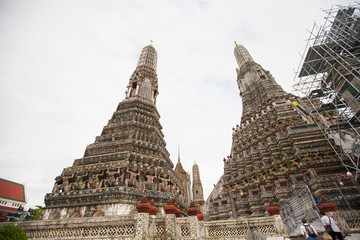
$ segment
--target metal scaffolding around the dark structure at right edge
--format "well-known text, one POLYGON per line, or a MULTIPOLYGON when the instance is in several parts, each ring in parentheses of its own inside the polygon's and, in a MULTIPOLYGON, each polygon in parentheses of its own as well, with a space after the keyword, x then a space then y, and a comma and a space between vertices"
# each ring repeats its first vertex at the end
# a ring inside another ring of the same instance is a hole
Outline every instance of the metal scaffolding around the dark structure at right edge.
POLYGON ((358 179, 360 161, 360 4, 325 11, 314 24, 294 90, 348 173, 358 179), (338 147, 340 146, 340 148, 338 147))

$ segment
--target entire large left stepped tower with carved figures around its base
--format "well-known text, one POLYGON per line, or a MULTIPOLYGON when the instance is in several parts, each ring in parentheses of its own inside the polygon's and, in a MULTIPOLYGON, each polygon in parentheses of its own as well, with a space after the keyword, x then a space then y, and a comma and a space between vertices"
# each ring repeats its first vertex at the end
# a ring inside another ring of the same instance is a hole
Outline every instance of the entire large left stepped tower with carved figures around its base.
POLYGON ((125 99, 101 135, 46 194, 43 219, 132 214, 144 195, 160 208, 172 198, 185 212, 190 179, 173 170, 166 149, 156 108, 156 64, 155 48, 144 47, 125 99))

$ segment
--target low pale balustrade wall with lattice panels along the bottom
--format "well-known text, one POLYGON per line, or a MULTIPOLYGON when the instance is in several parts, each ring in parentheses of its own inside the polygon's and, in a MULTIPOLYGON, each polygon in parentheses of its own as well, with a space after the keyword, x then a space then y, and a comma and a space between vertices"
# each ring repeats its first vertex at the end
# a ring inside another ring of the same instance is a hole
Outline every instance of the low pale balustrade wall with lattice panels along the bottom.
MULTIPOLYGON (((344 233, 360 232, 360 211, 335 212, 344 233)), ((4 223, 5 224, 5 223, 4 223)), ((7 223, 8 224, 8 223, 7 223)), ((219 221, 173 214, 67 218, 17 222, 29 239, 285 239, 290 237, 280 215, 219 221)))

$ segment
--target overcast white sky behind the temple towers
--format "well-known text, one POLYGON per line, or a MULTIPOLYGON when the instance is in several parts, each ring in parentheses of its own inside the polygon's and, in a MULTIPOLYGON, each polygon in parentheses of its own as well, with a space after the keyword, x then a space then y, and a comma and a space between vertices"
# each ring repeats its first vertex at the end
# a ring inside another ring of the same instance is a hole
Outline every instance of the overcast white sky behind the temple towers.
POLYGON ((206 199, 223 173, 242 103, 234 41, 291 91, 306 29, 352 1, 0 0, 0 178, 44 205, 124 99, 139 54, 158 52, 160 122, 171 159, 194 160, 206 199))

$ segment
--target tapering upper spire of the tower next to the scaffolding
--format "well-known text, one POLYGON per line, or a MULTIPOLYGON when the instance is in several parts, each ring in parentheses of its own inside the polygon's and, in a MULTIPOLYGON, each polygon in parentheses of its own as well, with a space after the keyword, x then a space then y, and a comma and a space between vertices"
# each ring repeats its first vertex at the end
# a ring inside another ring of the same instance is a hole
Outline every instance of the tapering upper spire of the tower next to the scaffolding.
POLYGON ((243 101, 243 118, 257 112, 273 98, 287 93, 279 86, 269 71, 254 62, 245 47, 235 42, 234 54, 239 65, 237 84, 243 101))

